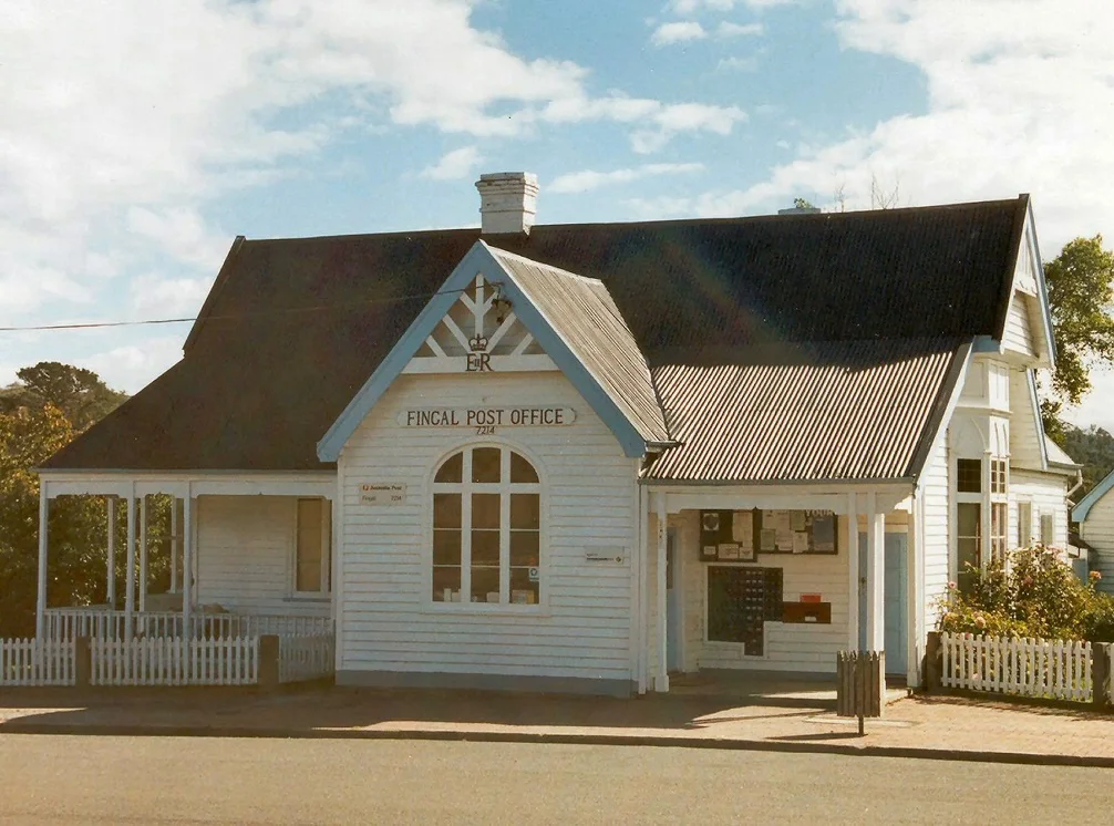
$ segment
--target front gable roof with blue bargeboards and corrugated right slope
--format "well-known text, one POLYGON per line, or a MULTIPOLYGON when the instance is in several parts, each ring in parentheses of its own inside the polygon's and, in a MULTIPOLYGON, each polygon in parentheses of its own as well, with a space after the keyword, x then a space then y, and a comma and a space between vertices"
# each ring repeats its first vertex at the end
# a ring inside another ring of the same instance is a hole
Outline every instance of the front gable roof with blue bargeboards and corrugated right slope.
POLYGON ((477 273, 501 286, 516 315, 628 456, 642 456, 647 443, 670 441, 649 368, 603 285, 478 240, 325 433, 317 445, 323 461, 336 461, 344 443, 477 273))

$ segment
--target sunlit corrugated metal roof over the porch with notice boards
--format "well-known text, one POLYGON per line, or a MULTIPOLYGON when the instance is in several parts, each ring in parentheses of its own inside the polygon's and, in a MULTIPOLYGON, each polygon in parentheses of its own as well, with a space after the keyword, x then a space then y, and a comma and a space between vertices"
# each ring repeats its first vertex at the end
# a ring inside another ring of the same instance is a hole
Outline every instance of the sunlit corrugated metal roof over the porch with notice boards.
POLYGON ((678 482, 911 479, 958 365, 956 340, 758 346, 653 370, 681 446, 648 478, 678 482))

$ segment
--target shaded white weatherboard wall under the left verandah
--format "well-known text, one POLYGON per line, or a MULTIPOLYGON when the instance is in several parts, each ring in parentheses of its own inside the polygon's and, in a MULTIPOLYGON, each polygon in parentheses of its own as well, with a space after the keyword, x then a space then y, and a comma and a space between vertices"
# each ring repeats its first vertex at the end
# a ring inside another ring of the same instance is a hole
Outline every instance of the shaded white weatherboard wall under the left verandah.
POLYGON ((291 598, 296 524, 294 496, 198 496, 197 604, 328 617, 328 594, 291 598))

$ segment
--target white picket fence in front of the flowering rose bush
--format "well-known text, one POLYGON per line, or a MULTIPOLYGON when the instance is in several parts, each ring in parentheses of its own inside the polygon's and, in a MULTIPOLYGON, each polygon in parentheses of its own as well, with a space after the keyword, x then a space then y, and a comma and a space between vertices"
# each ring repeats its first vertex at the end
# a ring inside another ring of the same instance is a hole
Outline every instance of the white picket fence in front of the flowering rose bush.
POLYGON ((945 688, 1089 702, 1089 642, 940 633, 945 688))

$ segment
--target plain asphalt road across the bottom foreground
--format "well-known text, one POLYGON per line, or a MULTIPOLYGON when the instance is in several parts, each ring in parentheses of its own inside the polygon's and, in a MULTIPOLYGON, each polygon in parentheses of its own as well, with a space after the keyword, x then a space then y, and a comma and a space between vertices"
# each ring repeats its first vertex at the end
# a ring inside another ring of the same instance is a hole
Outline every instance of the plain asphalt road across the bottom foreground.
POLYGON ((685 748, 0 736, 3 824, 1103 823, 1114 771, 685 748))

